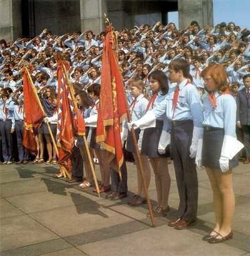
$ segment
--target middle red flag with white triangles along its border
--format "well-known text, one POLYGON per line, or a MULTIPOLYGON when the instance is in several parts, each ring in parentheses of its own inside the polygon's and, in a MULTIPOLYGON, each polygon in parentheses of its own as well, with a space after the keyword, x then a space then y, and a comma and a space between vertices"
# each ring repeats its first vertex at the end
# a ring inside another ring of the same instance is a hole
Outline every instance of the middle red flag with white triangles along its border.
MULTIPOLYGON (((68 64, 64 63, 66 70, 68 64)), ((59 151, 59 164, 71 173, 70 156, 74 147, 74 136, 85 135, 85 123, 79 110, 74 109, 69 86, 64 76, 63 62, 58 61, 58 130, 57 145, 59 151)))

